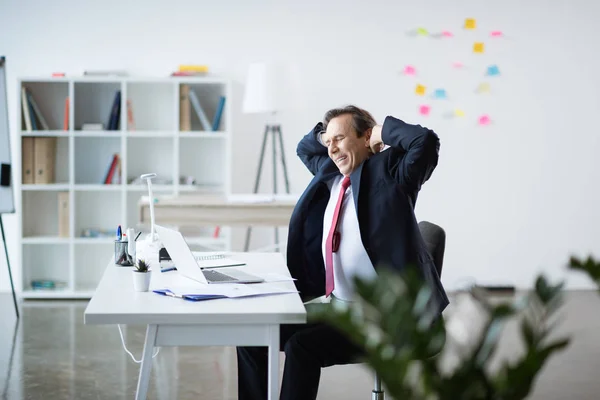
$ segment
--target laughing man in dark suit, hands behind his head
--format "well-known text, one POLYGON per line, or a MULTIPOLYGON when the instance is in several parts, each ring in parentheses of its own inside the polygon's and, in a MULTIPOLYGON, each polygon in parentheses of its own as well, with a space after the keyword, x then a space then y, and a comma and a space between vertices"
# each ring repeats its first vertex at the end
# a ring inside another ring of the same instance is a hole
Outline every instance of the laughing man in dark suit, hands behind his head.
MULTIPOLYGON (((385 265, 417 266, 432 289, 438 316, 448 298, 414 215, 421 185, 438 163, 439 138, 430 129, 388 116, 377 125, 355 106, 325 114, 297 153, 314 177, 290 219, 287 263, 303 300, 352 301, 353 278, 376 276, 385 265)), ((362 354, 324 323, 282 325, 285 367, 281 399, 316 399, 321 368, 362 354)), ((239 347, 239 399, 267 398, 267 350, 239 347)))

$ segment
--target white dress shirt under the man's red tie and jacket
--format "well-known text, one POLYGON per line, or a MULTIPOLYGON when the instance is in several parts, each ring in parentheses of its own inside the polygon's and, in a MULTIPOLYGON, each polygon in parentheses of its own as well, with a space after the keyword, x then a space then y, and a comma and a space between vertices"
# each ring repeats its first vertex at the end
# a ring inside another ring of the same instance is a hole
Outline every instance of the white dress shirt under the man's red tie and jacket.
MULTIPOLYGON (((323 218, 323 242, 321 246, 323 260, 326 260, 327 236, 329 236, 329 229, 333 222, 333 214, 343 178, 340 175, 329 183, 331 195, 323 218)), ((332 294, 338 299, 352 301, 355 298, 354 277, 373 279, 377 276, 360 238, 360 227, 352 196, 352 186, 346 189, 339 217, 337 230, 340 233, 340 247, 337 252, 333 253, 333 280, 335 286, 332 294)))

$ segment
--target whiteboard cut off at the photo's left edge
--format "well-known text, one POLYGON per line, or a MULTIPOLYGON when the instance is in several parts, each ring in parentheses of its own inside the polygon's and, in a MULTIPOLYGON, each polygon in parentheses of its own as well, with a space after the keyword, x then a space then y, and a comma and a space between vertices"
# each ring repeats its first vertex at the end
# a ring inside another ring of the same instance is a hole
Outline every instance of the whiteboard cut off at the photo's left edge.
POLYGON ((12 168, 10 161, 10 130, 6 95, 6 58, 0 56, 0 214, 15 212, 12 168))

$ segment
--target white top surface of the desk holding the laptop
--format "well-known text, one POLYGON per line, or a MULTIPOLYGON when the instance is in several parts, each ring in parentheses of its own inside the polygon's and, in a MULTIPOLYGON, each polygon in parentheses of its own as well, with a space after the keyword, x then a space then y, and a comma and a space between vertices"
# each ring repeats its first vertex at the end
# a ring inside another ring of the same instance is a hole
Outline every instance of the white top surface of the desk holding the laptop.
MULTIPOLYGON (((236 267, 264 276, 269 273, 290 276, 281 253, 232 253, 245 266, 236 267)), ((133 267, 116 266, 111 260, 84 313, 86 324, 287 324, 306 322, 306 309, 298 293, 261 297, 215 299, 191 302, 133 289, 133 267)), ((219 269, 226 272, 227 268, 219 269)), ((162 274, 152 272, 150 288, 162 274), (156 279, 156 280, 155 280, 156 279)), ((202 285, 192 280, 189 286, 202 285)), ((278 285, 295 290, 292 281, 257 285, 278 285)))

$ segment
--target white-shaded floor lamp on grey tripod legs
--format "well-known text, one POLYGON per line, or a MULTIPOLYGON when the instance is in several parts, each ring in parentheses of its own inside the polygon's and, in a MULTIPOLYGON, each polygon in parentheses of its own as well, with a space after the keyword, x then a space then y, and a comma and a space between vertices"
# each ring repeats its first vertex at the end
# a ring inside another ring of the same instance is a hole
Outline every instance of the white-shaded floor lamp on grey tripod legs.
MULTIPOLYGON (((246 79, 246 90, 244 92, 243 112, 250 113, 271 113, 275 114, 280 107, 280 99, 278 99, 278 86, 277 86, 277 69, 273 64, 267 63, 254 63, 250 64, 248 68, 248 76, 246 79)), ((277 193, 277 168, 278 158, 277 150, 281 153, 279 160, 283 169, 283 179, 285 182, 285 191, 287 194, 290 193, 290 184, 287 173, 287 165, 285 162, 285 151, 283 146, 283 135, 281 133, 281 125, 274 123, 265 125, 263 133, 262 147, 260 150, 260 156, 258 160, 258 170, 256 171, 256 179, 254 181, 254 192, 258 193, 260 186, 260 178, 263 169, 263 162, 265 159, 265 148, 267 146, 267 140, 269 135, 271 136, 271 150, 273 157, 273 194, 277 193), (279 145, 277 144, 279 142, 279 145)), ((246 243, 244 245, 244 251, 248 251, 250 247, 250 235, 252 233, 252 227, 246 228, 246 243)), ((278 227, 275 227, 275 243, 279 243, 279 232, 278 227)))

